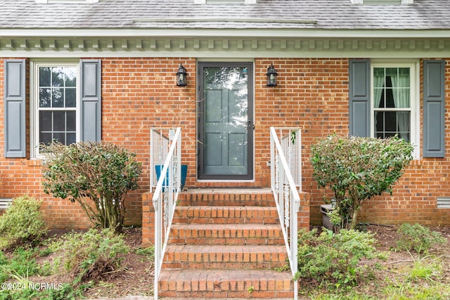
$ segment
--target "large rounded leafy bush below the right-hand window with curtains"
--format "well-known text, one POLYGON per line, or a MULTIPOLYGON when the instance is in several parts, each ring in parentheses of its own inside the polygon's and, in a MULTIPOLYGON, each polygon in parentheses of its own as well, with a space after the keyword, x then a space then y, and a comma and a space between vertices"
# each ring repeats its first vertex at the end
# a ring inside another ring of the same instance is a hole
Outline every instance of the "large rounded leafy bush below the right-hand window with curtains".
POLYGON ((329 136, 311 145, 313 176, 335 193, 341 228, 356 228, 361 205, 392 185, 411 161, 413 146, 401 138, 329 136))

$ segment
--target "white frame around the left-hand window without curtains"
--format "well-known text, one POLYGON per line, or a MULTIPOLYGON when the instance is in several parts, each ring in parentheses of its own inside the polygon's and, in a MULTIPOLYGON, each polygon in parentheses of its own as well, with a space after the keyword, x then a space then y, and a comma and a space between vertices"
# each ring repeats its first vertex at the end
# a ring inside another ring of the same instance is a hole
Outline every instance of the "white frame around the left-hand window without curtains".
POLYGON ((30 157, 36 159, 43 159, 44 156, 39 154, 39 67, 76 67, 77 68, 77 107, 75 108, 76 117, 76 141, 80 141, 80 104, 79 99, 79 84, 80 71, 79 63, 70 60, 55 61, 31 61, 30 62, 30 157))

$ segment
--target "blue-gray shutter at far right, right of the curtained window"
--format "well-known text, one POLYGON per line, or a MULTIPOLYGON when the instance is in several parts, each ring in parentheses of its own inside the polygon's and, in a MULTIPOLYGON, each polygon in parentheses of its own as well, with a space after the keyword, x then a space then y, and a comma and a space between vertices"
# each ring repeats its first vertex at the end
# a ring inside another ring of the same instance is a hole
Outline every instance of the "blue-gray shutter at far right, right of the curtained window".
POLYGON ((444 157, 445 61, 423 62, 423 157, 444 157))

